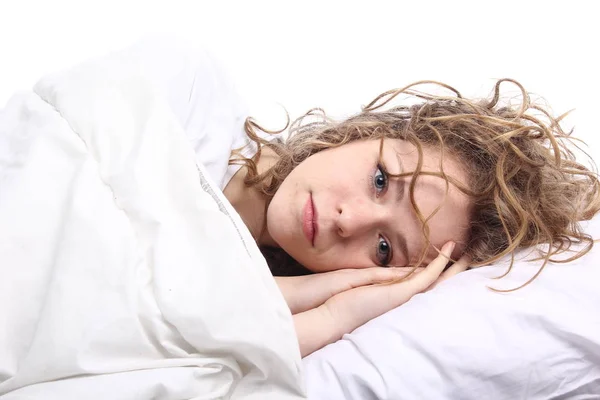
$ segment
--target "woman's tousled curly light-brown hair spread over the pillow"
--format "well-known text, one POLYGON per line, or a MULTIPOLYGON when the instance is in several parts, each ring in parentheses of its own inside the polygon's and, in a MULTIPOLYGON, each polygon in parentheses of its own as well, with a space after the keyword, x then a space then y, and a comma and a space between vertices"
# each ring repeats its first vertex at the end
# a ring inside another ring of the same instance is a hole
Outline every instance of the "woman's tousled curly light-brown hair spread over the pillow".
MULTIPOLYGON (((593 160, 590 159, 592 169, 576 161, 572 150, 579 148, 577 139, 560 125, 565 115, 553 117, 546 108, 531 101, 522 85, 510 79, 499 80, 490 98, 483 100, 465 99, 448 85, 421 81, 379 95, 359 114, 341 122, 331 120, 321 109, 310 110, 291 124, 286 141, 264 140, 257 132, 278 134, 287 126, 281 131, 269 131, 248 118, 245 131, 258 144, 258 152, 249 159, 236 151, 230 163, 245 165, 245 184, 272 198, 298 164, 321 150, 355 140, 381 139, 382 146, 385 138, 409 141, 419 152, 417 169, 395 176, 410 176, 410 200, 427 244, 421 261, 430 244, 427 220, 431 216, 421 214, 414 188, 421 175, 436 175, 446 180, 446 188, 452 184, 471 197, 465 254, 471 257, 473 266, 493 263, 520 248, 547 245, 538 247, 537 260, 543 263, 521 288, 535 279, 548 261, 572 261, 594 244, 579 221, 592 218, 600 209, 598 174, 593 160), (516 100, 514 96, 501 97, 500 89, 506 83, 519 89, 519 104, 510 103, 516 100), (416 90, 431 84, 449 91, 449 95, 416 90), (400 104, 392 105, 392 100, 400 104), (259 175, 256 161, 261 156, 261 146, 272 149, 279 159, 259 175), (468 174, 468 186, 445 175, 441 162, 441 173, 421 171, 423 146, 438 148, 442 158, 449 154, 460 160, 468 174), (575 250, 574 244, 583 246, 575 250), (554 258, 566 251, 571 252, 570 257, 554 258)), ((264 254, 275 274, 307 272, 277 250, 265 249, 264 254)), ((514 255, 502 277, 513 262, 514 255)))

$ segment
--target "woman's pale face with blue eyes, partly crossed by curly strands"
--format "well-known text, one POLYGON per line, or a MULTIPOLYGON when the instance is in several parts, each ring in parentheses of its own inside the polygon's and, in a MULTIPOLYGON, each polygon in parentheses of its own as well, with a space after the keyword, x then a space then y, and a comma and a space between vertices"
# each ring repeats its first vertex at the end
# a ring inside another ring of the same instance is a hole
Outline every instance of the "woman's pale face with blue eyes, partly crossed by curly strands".
MULTIPOLYGON (((342 268, 406 266, 418 261, 425 245, 421 223, 409 198, 411 177, 389 178, 416 169, 415 146, 400 139, 355 141, 307 158, 283 181, 267 210, 267 234, 299 263, 314 272, 342 268)), ((423 171, 439 172, 440 153, 423 148, 423 171)), ((444 172, 463 184, 466 174, 450 156, 444 172)), ((464 248, 469 227, 468 197, 442 178, 422 175, 415 200, 428 221, 430 240, 441 248, 464 248), (443 202, 442 202, 443 201, 443 202)), ((429 247, 425 262, 437 252, 429 247)))

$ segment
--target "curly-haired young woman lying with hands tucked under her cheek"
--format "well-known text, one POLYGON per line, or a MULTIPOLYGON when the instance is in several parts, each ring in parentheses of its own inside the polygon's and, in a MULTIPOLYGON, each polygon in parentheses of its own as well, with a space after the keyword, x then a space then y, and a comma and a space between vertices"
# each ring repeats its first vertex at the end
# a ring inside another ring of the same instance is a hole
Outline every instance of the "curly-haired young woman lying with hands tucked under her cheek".
POLYGON ((563 261, 593 245, 578 221, 600 209, 599 181, 575 160, 562 117, 511 80, 484 100, 417 90, 428 84, 383 93, 342 122, 312 110, 286 141, 246 121, 257 151, 234 152, 242 168, 224 194, 273 273, 300 275, 276 279, 302 355, 468 267, 545 244, 526 285, 571 245, 584 244, 563 261), (511 84, 518 106, 501 96, 511 84))

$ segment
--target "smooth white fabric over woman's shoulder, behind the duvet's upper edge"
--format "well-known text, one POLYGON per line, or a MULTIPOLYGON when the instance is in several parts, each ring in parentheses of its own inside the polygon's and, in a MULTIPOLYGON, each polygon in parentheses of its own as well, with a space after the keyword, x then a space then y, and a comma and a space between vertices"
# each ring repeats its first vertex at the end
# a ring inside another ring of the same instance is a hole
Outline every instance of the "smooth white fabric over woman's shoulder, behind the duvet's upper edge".
POLYGON ((154 87, 183 128, 196 162, 221 189, 239 169, 228 165, 231 151, 243 148, 244 155, 254 155, 243 128, 248 107, 227 70, 206 49, 149 37, 100 62, 135 69, 154 87))

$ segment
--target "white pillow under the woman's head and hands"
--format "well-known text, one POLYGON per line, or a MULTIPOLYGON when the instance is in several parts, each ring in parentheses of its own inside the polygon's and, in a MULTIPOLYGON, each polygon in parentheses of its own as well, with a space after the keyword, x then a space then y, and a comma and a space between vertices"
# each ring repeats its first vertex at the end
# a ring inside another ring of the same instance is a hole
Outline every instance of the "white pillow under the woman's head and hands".
POLYGON ((538 266, 459 274, 312 354, 309 399, 600 399, 600 243, 486 288, 538 266))

